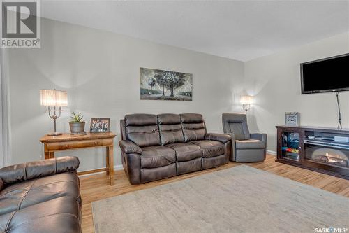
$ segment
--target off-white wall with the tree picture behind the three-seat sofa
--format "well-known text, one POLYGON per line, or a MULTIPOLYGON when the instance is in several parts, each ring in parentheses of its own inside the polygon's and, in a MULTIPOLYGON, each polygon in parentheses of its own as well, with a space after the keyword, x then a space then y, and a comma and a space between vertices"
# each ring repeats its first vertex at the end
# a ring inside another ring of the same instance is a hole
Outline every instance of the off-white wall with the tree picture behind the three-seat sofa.
MULTIPOLYGON (((39 139, 53 121, 40 106, 40 89, 67 90, 69 108, 83 113, 86 130, 91 117, 111 118, 116 164, 119 119, 127 113, 202 113, 209 131, 222 132, 221 114, 241 111, 234 97, 242 92, 243 62, 52 20, 43 19, 41 31, 41 49, 9 51, 13 163, 43 157, 39 139), (193 101, 141 101, 140 67, 193 73, 193 101)), ((69 131, 70 109, 57 120, 61 132, 69 131)), ((102 149, 61 155, 80 157, 80 171, 105 165, 102 149)))

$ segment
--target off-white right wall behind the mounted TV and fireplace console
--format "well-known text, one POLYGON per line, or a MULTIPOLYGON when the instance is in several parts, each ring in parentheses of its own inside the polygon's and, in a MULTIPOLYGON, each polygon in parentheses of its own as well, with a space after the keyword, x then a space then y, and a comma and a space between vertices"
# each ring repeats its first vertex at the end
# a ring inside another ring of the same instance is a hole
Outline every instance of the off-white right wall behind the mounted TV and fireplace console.
MULTIPOLYGON (((335 94, 302 95, 299 64, 348 52, 346 33, 244 63, 244 85, 255 96, 250 131, 268 134, 268 150, 276 150, 275 126, 284 124, 286 111, 298 111, 303 126, 337 127, 335 94)), ((349 92, 341 92, 340 101, 343 127, 349 128, 349 92)))

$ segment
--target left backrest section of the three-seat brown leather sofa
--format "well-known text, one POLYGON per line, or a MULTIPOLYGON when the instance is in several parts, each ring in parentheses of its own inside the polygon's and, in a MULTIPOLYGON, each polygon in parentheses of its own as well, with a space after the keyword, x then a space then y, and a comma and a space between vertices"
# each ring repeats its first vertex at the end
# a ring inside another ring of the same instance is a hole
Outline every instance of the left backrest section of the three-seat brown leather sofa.
POLYGON ((133 141, 138 146, 161 145, 156 115, 130 114, 125 115, 124 120, 126 140, 133 141))

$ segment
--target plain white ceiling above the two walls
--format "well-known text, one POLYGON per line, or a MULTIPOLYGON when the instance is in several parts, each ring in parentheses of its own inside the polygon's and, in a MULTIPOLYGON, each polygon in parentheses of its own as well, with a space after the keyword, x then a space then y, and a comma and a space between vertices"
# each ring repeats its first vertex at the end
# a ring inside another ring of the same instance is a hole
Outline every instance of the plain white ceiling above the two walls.
POLYGON ((42 0, 42 17, 246 61, 349 31, 349 1, 42 0))

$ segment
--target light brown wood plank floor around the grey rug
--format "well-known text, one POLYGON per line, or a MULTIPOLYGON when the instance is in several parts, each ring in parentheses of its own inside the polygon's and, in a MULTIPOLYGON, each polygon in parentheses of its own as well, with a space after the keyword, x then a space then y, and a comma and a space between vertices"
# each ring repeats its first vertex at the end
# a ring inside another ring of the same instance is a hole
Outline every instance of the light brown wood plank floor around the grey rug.
MULTIPOLYGON (((338 195, 349 197, 349 181, 342 178, 336 178, 334 176, 328 176, 320 174, 315 171, 309 171, 306 169, 293 167, 287 164, 281 164, 275 162, 275 156, 267 155, 265 162, 248 163, 248 166, 262 169, 264 171, 271 172, 273 174, 290 178, 294 181, 306 183, 317 188, 322 188, 329 192, 334 192, 338 195)), ((142 185, 131 185, 128 182, 124 170, 116 171, 114 174, 114 184, 109 185, 107 176, 105 174, 96 174, 91 176, 81 177, 81 195, 82 195, 82 232, 94 232, 94 225, 92 220, 91 202, 105 199, 107 197, 113 197, 121 195, 127 192, 133 192, 135 190, 142 190, 144 188, 151 188, 157 185, 163 185, 165 183, 171 183, 179 181, 185 178, 193 176, 200 176, 212 171, 218 171, 221 169, 227 169, 230 167, 238 166, 242 163, 230 162, 224 166, 208 169, 205 171, 198 171, 191 174, 184 174, 181 176, 175 176, 161 181, 154 181, 142 185)))

